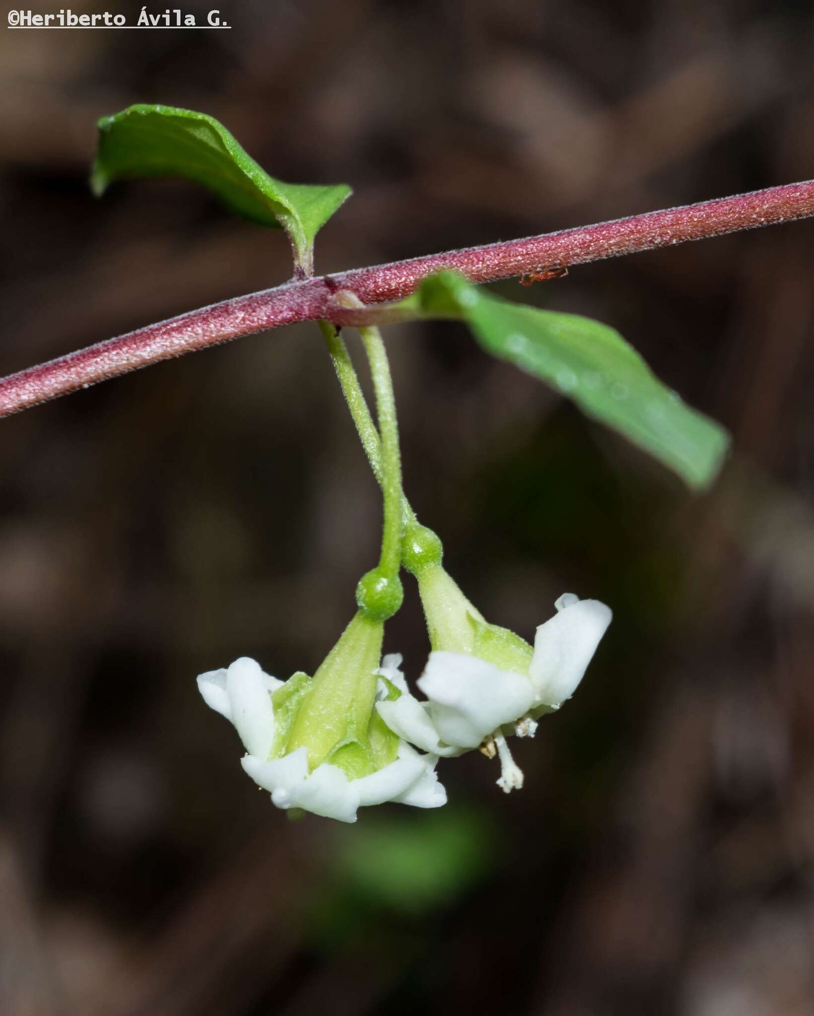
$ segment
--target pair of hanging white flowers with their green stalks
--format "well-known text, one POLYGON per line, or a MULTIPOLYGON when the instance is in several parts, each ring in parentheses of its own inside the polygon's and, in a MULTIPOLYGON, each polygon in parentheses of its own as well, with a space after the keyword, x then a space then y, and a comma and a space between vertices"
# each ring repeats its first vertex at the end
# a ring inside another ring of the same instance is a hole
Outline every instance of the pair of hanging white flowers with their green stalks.
MULTIPOLYGON (((359 301, 346 294, 350 303, 359 301)), ((371 365, 378 428, 369 416, 335 329, 323 322, 349 407, 383 497, 381 556, 357 586, 359 612, 313 678, 281 682, 253 659, 198 678, 207 705, 230 719, 247 754, 243 768, 277 808, 355 822, 361 807, 394 801, 416 808, 446 803, 435 767, 441 757, 480 749, 499 756, 498 784, 523 784, 506 738, 534 737, 582 680, 611 623, 596 599, 565 593, 537 630, 534 646, 489 624, 442 566, 441 541, 420 525, 401 489, 395 402, 387 357, 375 328, 360 333, 371 365), (417 579, 432 651, 409 690, 401 657, 381 659, 384 622, 403 595, 400 570, 417 579), (424 754, 422 754, 424 753, 424 754)))

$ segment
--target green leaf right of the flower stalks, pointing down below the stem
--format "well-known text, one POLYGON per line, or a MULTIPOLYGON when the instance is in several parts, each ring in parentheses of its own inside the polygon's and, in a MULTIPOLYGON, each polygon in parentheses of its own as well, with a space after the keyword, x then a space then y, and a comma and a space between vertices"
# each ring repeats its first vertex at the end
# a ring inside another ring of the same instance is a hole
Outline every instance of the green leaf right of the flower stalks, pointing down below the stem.
POLYGON ((717 474, 728 432, 662 384, 614 328, 509 303, 453 272, 427 279, 418 305, 425 316, 462 318, 488 353, 546 381, 690 487, 708 487, 717 474))

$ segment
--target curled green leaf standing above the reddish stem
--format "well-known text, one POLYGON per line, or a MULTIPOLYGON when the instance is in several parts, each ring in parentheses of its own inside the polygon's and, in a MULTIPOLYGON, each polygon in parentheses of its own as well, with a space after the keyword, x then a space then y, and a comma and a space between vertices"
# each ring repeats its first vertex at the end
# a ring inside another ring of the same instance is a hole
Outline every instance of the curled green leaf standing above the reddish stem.
POLYGON ((350 196, 347 184, 287 184, 270 177, 212 117, 172 106, 131 106, 99 121, 90 176, 97 196, 123 178, 184 177, 213 191, 233 211, 284 229, 304 274, 314 237, 350 196))

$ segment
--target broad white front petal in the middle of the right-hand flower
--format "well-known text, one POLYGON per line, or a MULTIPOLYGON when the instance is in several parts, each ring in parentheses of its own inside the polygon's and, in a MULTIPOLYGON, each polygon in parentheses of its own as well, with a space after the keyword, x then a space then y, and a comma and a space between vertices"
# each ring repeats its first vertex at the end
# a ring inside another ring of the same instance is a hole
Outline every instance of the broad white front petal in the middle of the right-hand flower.
POLYGON ((460 748, 477 748, 503 723, 519 719, 534 701, 527 678, 458 652, 431 652, 418 685, 430 699, 430 718, 441 740, 460 748))

